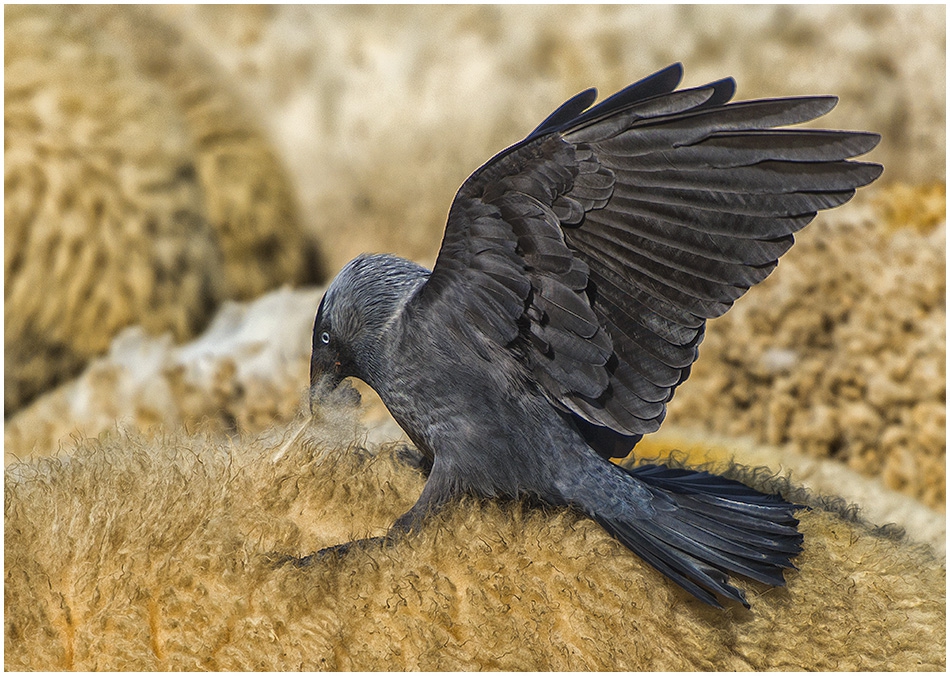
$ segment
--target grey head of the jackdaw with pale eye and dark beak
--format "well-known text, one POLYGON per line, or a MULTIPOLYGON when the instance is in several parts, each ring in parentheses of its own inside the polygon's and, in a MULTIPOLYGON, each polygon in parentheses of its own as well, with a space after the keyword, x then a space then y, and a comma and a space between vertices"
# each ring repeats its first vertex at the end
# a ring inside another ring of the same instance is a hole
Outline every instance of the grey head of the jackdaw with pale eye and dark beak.
POLYGON ((311 409, 349 376, 374 386, 386 332, 428 275, 387 254, 364 254, 340 270, 313 323, 311 409))

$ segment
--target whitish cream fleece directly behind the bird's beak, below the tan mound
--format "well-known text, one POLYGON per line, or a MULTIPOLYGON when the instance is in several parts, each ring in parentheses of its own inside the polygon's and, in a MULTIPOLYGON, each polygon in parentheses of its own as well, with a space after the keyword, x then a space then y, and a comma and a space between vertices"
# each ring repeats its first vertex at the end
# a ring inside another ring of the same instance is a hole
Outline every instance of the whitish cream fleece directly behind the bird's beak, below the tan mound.
MULTIPOLYGON (((116 428, 258 434, 289 422, 307 393, 313 315, 322 289, 283 288, 253 303, 226 301, 202 335, 175 345, 141 327, 120 333, 81 376, 4 425, 5 462, 55 453, 71 438, 116 428)), ((402 431, 359 384, 375 439, 402 431), (382 423, 382 424, 380 424, 382 423)))

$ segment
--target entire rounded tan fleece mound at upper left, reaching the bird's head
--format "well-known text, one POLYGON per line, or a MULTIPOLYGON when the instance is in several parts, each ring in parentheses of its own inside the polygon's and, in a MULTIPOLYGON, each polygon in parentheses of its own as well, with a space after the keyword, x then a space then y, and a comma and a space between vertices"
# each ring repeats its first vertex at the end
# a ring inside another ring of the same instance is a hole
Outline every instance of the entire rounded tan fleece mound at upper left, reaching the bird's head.
POLYGON ((278 162, 222 76, 144 9, 4 8, 4 411, 124 326, 194 335, 311 279, 278 162))

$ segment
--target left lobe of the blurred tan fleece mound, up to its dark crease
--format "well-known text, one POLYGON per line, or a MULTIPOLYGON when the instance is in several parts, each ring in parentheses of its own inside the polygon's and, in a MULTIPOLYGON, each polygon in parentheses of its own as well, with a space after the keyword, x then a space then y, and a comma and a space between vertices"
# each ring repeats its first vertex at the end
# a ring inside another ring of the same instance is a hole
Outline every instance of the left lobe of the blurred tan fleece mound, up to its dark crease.
POLYGON ((4 409, 219 295, 185 120, 69 10, 4 8, 4 409))

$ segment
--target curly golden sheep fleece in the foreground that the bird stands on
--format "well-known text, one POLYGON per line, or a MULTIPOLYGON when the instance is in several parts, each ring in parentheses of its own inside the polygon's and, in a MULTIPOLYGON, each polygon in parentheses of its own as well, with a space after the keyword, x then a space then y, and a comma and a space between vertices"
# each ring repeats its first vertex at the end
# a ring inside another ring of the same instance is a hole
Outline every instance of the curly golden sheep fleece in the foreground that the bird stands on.
POLYGON ((588 519, 509 503, 275 568, 417 497, 399 448, 355 432, 329 411, 283 447, 116 437, 8 467, 6 668, 945 668, 943 563, 819 506, 787 588, 741 582, 751 612, 702 605, 588 519))

